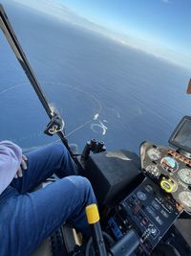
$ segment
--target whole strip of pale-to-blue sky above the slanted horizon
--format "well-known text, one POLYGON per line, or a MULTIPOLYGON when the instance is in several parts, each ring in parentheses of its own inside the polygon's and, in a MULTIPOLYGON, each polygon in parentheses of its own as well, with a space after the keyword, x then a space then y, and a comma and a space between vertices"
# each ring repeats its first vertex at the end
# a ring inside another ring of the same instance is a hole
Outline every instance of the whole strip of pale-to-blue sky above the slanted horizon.
MULTIPOLYGON (((0 0, 6 2, 9 0, 0 0)), ((191 70, 191 0, 10 0, 191 70)))

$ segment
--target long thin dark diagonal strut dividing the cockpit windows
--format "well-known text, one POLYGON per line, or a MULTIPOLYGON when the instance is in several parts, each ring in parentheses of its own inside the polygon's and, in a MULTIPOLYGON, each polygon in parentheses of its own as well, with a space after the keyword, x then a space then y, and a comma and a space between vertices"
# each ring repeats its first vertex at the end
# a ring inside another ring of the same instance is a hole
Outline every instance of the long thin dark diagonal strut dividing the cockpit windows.
MULTIPOLYGON (((13 53, 15 54, 16 58, 18 59, 18 61, 20 62, 23 70, 25 71, 29 81, 32 84, 32 87, 38 97, 38 99, 40 100, 41 104, 44 106, 45 111, 47 112, 49 118, 51 119, 51 122, 49 123, 49 125, 51 123, 53 123, 53 120, 55 119, 55 117, 59 118, 59 122, 62 122, 62 124, 64 124, 64 122, 62 121, 62 119, 59 117, 59 115, 57 113, 55 113, 50 105, 48 104, 48 101, 45 97, 45 95, 42 92, 42 89, 40 87, 40 83, 39 81, 37 81, 33 71, 32 71, 32 67, 30 65, 30 62, 28 61, 26 55, 23 52, 23 49, 21 47, 21 45, 19 44, 19 41, 16 37, 16 35, 14 34, 14 31, 11 27, 11 23, 9 21, 9 18, 3 8, 3 6, 0 4, 0 29, 3 31, 4 35, 6 36, 9 44, 11 45, 11 49, 13 51, 13 53)), ((48 127, 49 127, 48 125, 48 127)), ((46 130, 45 130, 46 131, 46 130)), ((46 132, 45 132, 46 133, 46 132)), ((75 163, 79 166, 79 162, 77 161, 77 159, 74 157, 73 152, 71 151, 68 141, 65 137, 64 131, 62 128, 59 129, 54 129, 53 134, 56 133, 59 138, 61 139, 61 141, 63 142, 63 144, 65 145, 65 147, 67 148, 67 150, 70 152, 71 156, 73 157, 75 163)), ((50 134, 49 134, 50 135, 50 134)))

